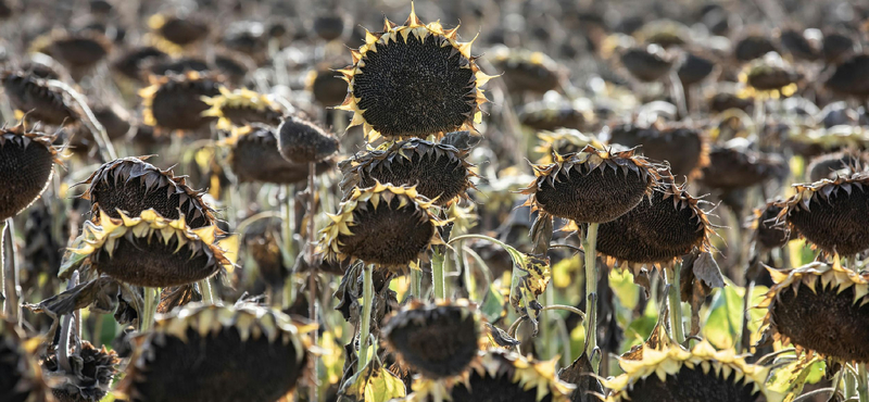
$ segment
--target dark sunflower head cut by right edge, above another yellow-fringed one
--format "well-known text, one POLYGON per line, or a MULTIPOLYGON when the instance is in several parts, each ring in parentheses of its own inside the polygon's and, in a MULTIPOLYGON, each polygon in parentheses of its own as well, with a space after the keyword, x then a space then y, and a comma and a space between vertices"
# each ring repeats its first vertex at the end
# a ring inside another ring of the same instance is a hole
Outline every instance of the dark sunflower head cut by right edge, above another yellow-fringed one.
POLYGON ((824 254, 847 256, 869 249, 869 172, 794 185, 794 190, 778 203, 779 223, 796 229, 824 254))

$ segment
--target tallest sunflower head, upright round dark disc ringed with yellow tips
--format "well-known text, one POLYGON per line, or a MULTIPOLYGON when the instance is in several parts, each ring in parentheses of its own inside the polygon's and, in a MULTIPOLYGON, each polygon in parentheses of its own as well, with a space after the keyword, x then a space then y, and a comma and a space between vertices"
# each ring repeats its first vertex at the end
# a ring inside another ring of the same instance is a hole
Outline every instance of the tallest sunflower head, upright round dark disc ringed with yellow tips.
POLYGON ((364 125, 369 140, 471 129, 486 102, 480 86, 491 77, 457 29, 423 24, 412 9, 404 25, 387 20, 382 33, 366 32, 353 65, 338 71, 350 87, 337 109, 352 111, 350 125, 364 125))

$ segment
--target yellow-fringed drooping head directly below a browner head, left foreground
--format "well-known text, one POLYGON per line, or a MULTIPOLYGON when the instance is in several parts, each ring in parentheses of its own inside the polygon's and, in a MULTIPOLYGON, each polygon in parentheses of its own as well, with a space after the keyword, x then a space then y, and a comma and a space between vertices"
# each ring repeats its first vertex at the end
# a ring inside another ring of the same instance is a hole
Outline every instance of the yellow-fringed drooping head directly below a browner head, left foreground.
POLYGON ((215 226, 191 229, 184 216, 167 219, 154 210, 114 219, 100 211, 100 225, 86 222, 61 266, 88 261, 119 281, 148 287, 179 286, 205 279, 230 265, 215 243, 215 226))

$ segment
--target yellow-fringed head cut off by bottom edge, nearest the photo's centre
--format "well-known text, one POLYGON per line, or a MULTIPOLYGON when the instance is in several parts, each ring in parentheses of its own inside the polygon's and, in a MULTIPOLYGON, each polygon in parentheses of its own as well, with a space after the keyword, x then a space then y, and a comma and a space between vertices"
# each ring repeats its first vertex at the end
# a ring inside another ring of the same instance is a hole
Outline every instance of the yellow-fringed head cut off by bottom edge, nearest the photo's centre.
POLYGON ((408 402, 567 402, 572 386, 559 380, 555 361, 540 362, 503 349, 479 352, 470 369, 451 378, 417 378, 408 402))

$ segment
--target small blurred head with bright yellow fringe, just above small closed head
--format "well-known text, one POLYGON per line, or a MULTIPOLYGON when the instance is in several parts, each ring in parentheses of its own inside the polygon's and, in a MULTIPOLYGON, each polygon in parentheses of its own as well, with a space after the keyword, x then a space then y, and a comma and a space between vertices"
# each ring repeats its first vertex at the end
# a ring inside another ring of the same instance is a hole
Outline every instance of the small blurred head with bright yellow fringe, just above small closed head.
POLYGON ((245 88, 230 91, 218 87, 218 90, 219 96, 202 98, 211 106, 202 115, 217 117, 218 129, 228 131, 232 126, 241 127, 251 123, 280 124, 282 113, 268 97, 245 88))

